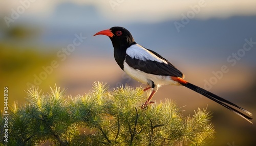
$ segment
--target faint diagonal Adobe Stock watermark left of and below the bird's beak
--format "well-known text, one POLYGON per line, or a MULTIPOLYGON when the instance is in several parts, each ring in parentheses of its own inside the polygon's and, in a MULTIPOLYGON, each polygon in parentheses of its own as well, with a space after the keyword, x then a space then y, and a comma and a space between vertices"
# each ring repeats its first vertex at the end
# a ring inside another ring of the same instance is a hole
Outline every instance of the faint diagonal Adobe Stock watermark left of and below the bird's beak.
MULTIPOLYGON (((61 48, 56 54, 56 56, 60 59, 60 61, 65 61, 67 59, 67 56, 71 55, 72 52, 76 50, 76 47, 79 46, 84 40, 86 40, 86 37, 82 36, 82 33, 75 34, 75 38, 73 39, 72 43, 68 44, 67 47, 61 48)), ((57 68, 59 66, 59 63, 57 60, 52 60, 50 65, 48 66, 42 66, 42 71, 36 75, 34 74, 34 80, 33 83, 28 82, 27 87, 31 88, 32 86, 39 86, 42 81, 46 80, 49 75, 52 74, 53 69, 57 68)))

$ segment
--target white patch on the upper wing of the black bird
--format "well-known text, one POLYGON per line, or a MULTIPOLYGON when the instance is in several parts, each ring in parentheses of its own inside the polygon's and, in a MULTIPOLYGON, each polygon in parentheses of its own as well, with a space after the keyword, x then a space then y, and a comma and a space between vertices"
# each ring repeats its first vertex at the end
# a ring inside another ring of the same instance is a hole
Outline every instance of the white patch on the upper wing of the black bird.
POLYGON ((151 60, 151 61, 157 61, 160 63, 168 64, 165 60, 157 57, 155 54, 146 50, 143 46, 137 43, 128 47, 126 50, 126 54, 129 55, 131 58, 135 58, 143 61, 151 60))

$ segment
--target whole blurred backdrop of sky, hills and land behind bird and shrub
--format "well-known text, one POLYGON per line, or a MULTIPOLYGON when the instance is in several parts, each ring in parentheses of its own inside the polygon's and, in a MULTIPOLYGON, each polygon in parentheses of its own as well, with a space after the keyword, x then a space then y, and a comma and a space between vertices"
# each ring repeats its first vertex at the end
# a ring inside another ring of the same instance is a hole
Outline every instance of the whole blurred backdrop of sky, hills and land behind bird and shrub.
MULTIPOLYGON (((8 104, 13 105, 23 104, 33 85, 47 93, 56 84, 72 96, 89 92, 94 81, 107 82, 110 90, 140 86, 116 64, 110 39, 92 37, 122 26, 189 82, 256 114, 255 6, 256 1, 230 0, 1 1, 1 91, 9 88, 8 104)), ((217 131, 213 145, 256 143, 255 124, 196 92, 163 86, 153 100, 165 99, 182 107, 184 116, 207 107, 217 131)))

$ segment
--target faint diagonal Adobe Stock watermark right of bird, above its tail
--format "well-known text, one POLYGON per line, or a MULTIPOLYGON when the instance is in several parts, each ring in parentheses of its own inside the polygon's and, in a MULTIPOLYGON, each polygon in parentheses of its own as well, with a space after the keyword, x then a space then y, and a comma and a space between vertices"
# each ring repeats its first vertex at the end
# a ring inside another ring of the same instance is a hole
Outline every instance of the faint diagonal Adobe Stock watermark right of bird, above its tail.
POLYGON ((240 48, 237 52, 233 52, 231 55, 227 57, 227 62, 229 65, 222 65, 220 70, 212 71, 214 76, 210 77, 208 80, 204 80, 204 89, 210 90, 214 85, 218 83, 229 71, 229 67, 233 67, 237 64, 239 60, 241 60, 247 52, 249 52, 256 45, 256 39, 252 40, 252 38, 244 39, 245 43, 243 44, 243 48, 240 48))

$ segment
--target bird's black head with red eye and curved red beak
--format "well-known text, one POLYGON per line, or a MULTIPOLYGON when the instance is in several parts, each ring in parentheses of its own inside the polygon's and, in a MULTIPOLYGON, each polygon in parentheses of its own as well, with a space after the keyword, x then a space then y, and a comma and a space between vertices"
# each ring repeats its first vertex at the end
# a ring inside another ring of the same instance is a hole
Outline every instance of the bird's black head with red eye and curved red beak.
POLYGON ((100 34, 109 36, 112 41, 113 47, 116 49, 119 49, 119 48, 126 49, 127 47, 135 43, 132 34, 128 30, 122 27, 112 27, 109 30, 100 31, 95 35, 100 35, 100 34))

